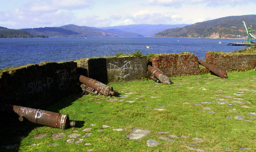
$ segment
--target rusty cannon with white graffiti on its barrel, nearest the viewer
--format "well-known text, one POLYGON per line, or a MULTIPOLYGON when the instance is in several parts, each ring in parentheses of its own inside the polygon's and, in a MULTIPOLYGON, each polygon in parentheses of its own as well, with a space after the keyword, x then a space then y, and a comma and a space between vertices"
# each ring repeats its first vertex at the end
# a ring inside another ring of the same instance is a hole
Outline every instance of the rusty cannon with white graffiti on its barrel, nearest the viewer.
POLYGON ((74 127, 75 121, 70 121, 67 114, 60 114, 55 112, 49 112, 41 109, 33 109, 22 106, 15 106, 11 104, 5 104, 5 108, 11 110, 8 113, 16 113, 19 115, 19 121, 23 121, 24 118, 30 122, 50 126, 54 128, 66 129, 68 127, 74 127))

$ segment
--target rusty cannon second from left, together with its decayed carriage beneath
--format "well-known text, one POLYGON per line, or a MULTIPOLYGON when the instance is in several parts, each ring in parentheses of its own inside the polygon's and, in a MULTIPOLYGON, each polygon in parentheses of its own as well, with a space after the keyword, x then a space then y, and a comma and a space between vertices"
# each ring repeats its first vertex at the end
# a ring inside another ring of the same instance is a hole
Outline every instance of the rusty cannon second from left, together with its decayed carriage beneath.
POLYGON ((81 88, 83 89, 83 91, 86 91, 93 95, 97 95, 98 92, 105 96, 110 96, 115 94, 115 91, 113 91, 113 88, 111 86, 107 86, 106 84, 93 80, 89 77, 80 75, 79 81, 85 84, 85 85, 83 84, 81 85, 81 88))

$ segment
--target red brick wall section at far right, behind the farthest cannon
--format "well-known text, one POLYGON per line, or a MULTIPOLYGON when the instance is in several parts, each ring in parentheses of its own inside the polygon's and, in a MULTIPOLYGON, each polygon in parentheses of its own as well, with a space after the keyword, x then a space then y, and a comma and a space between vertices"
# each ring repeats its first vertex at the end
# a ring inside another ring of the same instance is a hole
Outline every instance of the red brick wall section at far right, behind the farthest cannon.
POLYGON ((256 66, 256 55, 243 53, 207 52, 207 63, 223 71, 244 71, 256 66))

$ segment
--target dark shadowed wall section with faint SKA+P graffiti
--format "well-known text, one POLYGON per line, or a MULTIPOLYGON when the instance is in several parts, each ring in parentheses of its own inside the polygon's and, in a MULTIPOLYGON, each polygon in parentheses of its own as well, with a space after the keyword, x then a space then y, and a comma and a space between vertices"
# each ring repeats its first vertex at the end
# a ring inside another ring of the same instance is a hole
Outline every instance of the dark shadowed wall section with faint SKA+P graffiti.
POLYGON ((49 107, 79 91, 75 62, 40 63, 0 73, 0 102, 25 107, 49 107))

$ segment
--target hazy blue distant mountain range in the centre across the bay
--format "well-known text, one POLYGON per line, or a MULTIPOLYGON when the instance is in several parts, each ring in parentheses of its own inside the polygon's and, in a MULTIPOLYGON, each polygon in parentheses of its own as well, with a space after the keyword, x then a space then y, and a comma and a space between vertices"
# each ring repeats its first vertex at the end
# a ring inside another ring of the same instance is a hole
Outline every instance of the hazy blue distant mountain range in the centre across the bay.
POLYGON ((153 36, 155 33, 174 27, 184 27, 180 25, 125 25, 95 28, 89 26, 77 26, 73 24, 60 27, 40 27, 21 29, 32 34, 45 35, 48 37, 143 37, 153 36))

